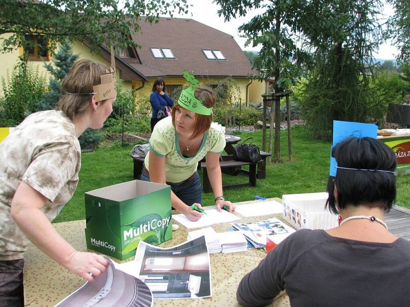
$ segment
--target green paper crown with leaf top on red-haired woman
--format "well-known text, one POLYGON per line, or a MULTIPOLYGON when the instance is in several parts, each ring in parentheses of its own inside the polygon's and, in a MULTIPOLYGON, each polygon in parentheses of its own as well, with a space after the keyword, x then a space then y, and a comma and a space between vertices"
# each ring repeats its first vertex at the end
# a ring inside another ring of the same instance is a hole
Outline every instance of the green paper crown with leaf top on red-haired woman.
POLYGON ((206 107, 203 105, 202 101, 196 99, 195 97, 195 87, 200 85, 195 76, 190 74, 188 71, 183 71, 182 76, 190 84, 186 89, 183 89, 181 95, 178 98, 178 104, 189 111, 202 115, 211 115, 212 107, 206 107))

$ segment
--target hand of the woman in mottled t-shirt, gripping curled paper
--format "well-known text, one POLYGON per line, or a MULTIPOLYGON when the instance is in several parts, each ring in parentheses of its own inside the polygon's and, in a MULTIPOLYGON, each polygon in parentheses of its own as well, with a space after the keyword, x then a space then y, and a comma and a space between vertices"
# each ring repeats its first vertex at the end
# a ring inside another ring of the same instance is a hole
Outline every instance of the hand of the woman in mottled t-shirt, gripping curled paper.
POLYGON ((94 253, 75 251, 64 266, 88 281, 94 281, 107 269, 108 261, 103 256, 94 253))

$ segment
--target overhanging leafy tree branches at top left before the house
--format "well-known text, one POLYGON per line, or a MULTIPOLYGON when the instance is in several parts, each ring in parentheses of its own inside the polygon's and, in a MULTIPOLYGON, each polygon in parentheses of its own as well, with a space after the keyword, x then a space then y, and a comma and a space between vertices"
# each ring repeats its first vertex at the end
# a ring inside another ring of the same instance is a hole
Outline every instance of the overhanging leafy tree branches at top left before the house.
POLYGON ((137 47, 130 34, 139 30, 140 18, 152 22, 187 10, 186 0, 0 0, 0 34, 11 34, 0 37, 1 50, 40 47, 31 35, 49 41, 50 50, 65 38, 87 41, 92 49, 137 47))

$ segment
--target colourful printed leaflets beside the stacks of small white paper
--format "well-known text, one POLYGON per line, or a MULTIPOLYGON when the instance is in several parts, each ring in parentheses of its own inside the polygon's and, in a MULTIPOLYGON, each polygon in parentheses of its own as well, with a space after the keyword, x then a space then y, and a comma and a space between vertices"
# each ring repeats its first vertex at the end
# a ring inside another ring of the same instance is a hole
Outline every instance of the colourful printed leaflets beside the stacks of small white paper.
POLYGON ((268 235, 291 234, 294 229, 273 217, 256 223, 233 223, 232 226, 240 231, 256 248, 264 248, 268 235))

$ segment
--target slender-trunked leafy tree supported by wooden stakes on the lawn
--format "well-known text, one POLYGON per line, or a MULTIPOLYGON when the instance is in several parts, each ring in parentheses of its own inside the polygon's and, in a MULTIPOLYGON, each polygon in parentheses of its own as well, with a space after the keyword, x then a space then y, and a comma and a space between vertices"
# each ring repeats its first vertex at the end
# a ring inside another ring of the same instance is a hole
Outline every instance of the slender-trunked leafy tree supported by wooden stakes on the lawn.
MULTIPOLYGON (((257 78, 275 78, 274 92, 289 89, 299 76, 302 63, 308 58, 299 41, 298 12, 303 10, 300 0, 215 0, 221 6, 218 11, 225 20, 247 15, 249 10, 261 9, 248 23, 238 28, 247 37, 248 45, 262 46, 253 67, 259 71, 257 78)), ((275 144, 274 160, 280 157, 280 98, 275 101, 275 144)))

